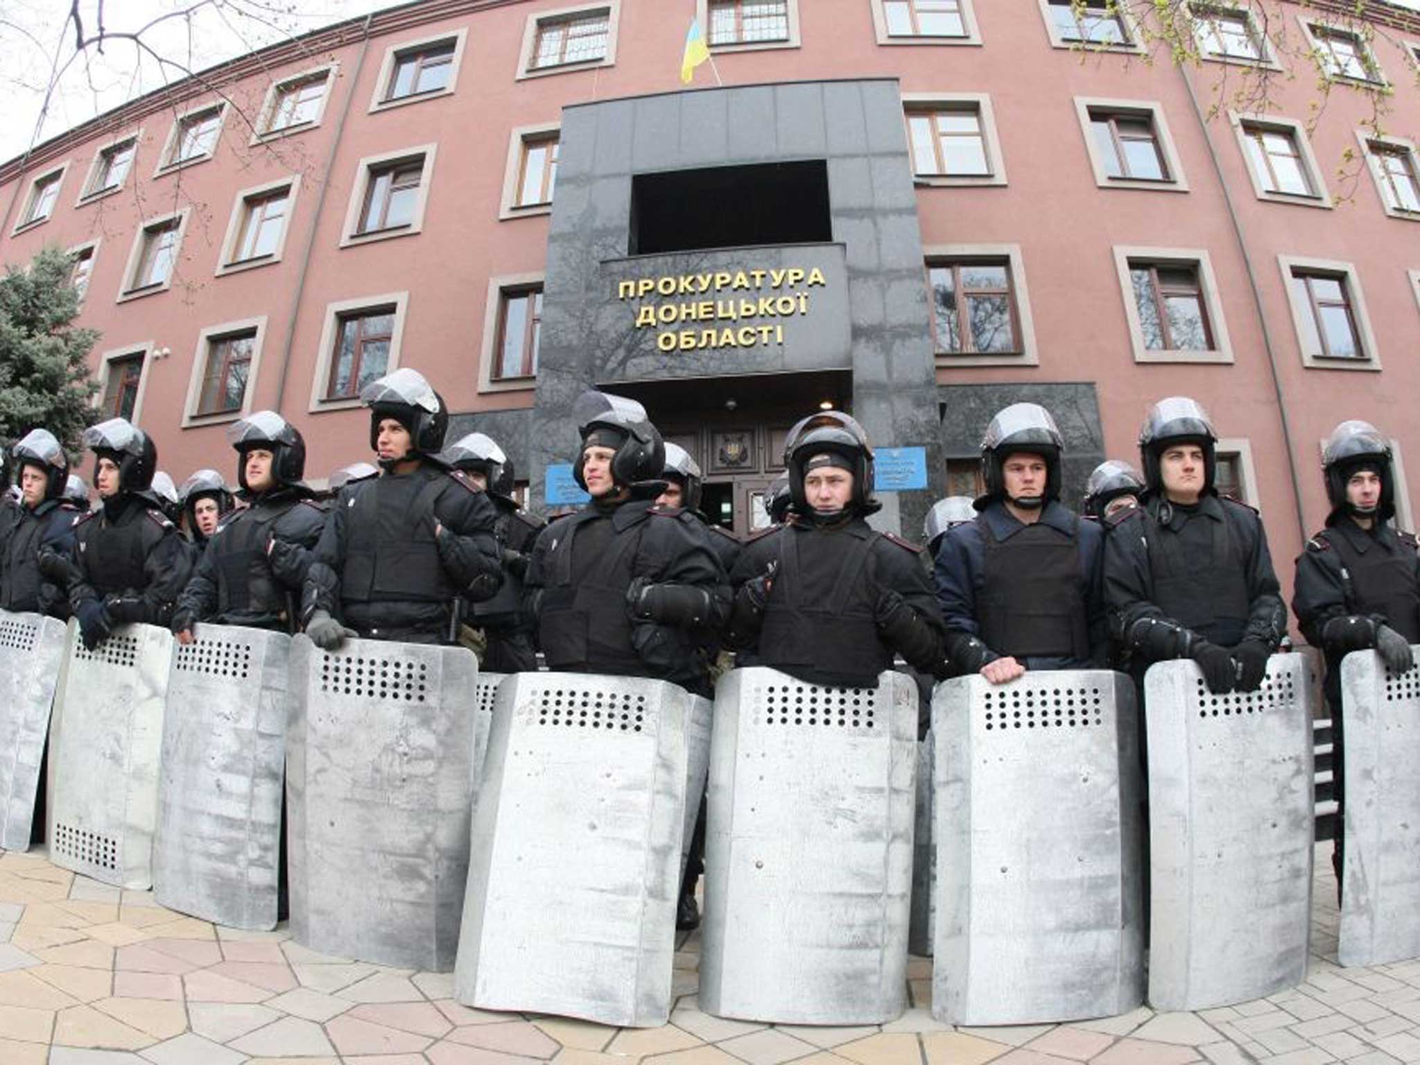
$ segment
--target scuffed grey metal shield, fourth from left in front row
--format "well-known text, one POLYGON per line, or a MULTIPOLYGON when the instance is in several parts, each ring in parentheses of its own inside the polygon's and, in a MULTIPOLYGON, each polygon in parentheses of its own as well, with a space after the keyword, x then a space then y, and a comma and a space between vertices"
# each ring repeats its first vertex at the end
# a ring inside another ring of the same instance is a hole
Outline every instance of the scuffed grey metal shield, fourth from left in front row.
POLYGON ((291 934, 322 954, 449 971, 469 868, 466 648, 291 642, 291 934))

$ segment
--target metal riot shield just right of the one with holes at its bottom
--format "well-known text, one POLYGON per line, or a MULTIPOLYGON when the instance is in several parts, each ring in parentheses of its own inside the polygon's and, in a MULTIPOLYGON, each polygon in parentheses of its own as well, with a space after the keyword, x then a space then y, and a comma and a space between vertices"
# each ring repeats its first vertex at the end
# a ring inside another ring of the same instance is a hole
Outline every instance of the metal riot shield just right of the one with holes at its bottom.
POLYGON ((291 638, 199 625, 178 645, 163 720, 153 896, 236 929, 274 929, 291 638))

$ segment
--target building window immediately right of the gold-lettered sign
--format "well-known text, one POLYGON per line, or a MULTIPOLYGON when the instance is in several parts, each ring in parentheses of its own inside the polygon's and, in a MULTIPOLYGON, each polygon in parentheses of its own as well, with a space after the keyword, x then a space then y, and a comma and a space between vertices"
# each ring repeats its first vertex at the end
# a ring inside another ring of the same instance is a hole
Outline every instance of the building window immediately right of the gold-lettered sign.
POLYGON ((1007 355, 1021 351, 1010 261, 929 263, 927 284, 939 354, 1007 355))

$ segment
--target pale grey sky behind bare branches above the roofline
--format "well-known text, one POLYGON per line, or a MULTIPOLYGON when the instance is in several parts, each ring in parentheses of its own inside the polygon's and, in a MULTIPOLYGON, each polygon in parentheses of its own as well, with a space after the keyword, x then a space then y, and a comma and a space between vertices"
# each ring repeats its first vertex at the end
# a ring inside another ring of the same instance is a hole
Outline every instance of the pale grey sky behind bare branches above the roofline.
MULTIPOLYGON (((395 0, 80 0, 87 36, 98 27, 102 3, 106 33, 142 34, 153 53, 199 71, 287 36, 396 6, 395 0), (162 16, 170 17, 153 24, 162 16)), ((180 70, 128 40, 109 41, 104 54, 89 48, 75 57, 70 0, 0 0, 0 160, 23 155, 94 115, 182 80, 180 70), (67 64, 67 67, 65 67, 67 64), (51 71, 55 82, 36 135, 51 71)))

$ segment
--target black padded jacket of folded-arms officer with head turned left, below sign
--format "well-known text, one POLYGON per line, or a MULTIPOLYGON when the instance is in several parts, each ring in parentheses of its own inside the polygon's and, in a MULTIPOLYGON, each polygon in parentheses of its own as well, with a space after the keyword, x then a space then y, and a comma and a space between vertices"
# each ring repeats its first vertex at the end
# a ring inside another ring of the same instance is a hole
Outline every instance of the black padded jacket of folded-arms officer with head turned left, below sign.
POLYGON ((527 594, 550 669, 660 677, 706 693, 704 632, 724 623, 730 586, 690 514, 594 500, 538 534, 527 594), (633 616, 633 584, 665 585, 677 602, 633 616))

